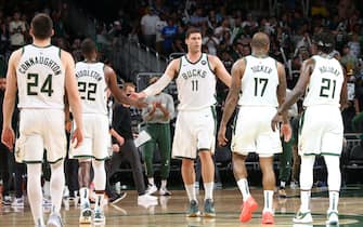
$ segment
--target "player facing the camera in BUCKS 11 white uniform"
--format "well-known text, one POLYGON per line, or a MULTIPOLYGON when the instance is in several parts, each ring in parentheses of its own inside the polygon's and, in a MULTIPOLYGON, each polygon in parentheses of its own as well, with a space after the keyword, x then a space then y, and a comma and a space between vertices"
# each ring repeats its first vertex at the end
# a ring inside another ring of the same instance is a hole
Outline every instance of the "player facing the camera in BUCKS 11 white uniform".
POLYGON ((217 56, 202 53, 200 30, 190 28, 185 43, 187 54, 173 59, 163 77, 137 97, 158 94, 176 78, 180 104, 172 157, 182 159, 181 172, 190 200, 187 216, 200 214, 194 188, 194 160, 199 156, 205 188, 204 215, 213 217, 215 164, 211 156, 216 141, 216 76, 228 86, 231 85, 231 76, 217 56))

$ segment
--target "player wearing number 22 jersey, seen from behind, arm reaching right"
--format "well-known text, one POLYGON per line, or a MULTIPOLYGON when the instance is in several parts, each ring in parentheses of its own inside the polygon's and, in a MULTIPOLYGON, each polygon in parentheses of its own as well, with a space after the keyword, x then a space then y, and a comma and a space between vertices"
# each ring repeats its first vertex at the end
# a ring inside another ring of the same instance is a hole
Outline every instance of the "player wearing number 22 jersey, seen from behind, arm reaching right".
MULTIPOLYGON (((95 206, 94 222, 105 222, 103 212, 103 198, 106 186, 106 172, 104 160, 108 157, 111 135, 107 110, 107 89, 120 102, 142 107, 142 103, 130 99, 117 86, 115 71, 107 65, 98 62, 95 43, 85 39, 81 43, 83 62, 76 64, 76 78, 78 91, 82 103, 82 119, 85 130, 83 144, 77 149, 70 149, 70 157, 79 160, 79 222, 91 223, 92 212, 89 202, 89 184, 91 163, 94 171, 95 206)), ((76 122, 77 123, 77 122, 76 122)))

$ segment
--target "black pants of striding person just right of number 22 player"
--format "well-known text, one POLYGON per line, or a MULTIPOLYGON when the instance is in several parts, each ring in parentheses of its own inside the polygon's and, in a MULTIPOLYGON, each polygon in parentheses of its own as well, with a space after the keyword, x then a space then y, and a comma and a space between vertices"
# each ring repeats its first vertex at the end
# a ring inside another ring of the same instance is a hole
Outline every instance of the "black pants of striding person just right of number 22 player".
POLYGON ((139 151, 133 143, 133 139, 126 139, 125 144, 120 147, 119 152, 114 152, 111 161, 106 164, 107 182, 106 182, 106 192, 111 192, 113 186, 109 184, 111 177, 118 171, 122 160, 127 160, 131 165, 132 177, 134 186, 138 190, 139 196, 145 193, 145 179, 142 172, 142 165, 140 160, 139 151))

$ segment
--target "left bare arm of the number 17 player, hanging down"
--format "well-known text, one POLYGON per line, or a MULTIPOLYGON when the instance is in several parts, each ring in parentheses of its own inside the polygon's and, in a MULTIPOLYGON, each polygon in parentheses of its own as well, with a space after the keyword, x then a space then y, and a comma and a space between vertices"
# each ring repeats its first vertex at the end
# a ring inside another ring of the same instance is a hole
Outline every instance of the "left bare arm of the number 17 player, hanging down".
POLYGON ((236 108, 241 91, 241 80, 245 72, 245 68, 246 64, 244 59, 237 61, 232 67, 232 84, 225 98, 223 116, 218 131, 218 143, 220 146, 224 146, 228 142, 225 138, 226 123, 236 108))

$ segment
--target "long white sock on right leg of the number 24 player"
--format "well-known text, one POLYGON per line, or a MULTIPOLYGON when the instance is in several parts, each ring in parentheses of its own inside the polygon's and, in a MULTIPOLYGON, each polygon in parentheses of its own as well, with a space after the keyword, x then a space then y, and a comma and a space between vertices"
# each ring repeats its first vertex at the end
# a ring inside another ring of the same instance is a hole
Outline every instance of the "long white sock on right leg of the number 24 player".
POLYGON ((52 175, 50 189, 52 191, 52 212, 60 213, 63 199, 63 189, 65 184, 63 160, 51 164, 52 175))

